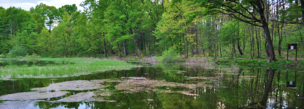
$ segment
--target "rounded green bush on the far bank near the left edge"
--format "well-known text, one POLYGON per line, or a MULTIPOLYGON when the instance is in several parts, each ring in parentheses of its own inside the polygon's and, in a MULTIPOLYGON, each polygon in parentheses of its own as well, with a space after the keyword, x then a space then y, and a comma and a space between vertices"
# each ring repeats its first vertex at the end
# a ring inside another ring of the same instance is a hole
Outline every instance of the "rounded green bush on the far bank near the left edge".
POLYGON ((28 55, 28 53, 26 52, 26 47, 23 46, 15 46, 13 47, 11 50, 9 50, 9 53, 7 54, 7 58, 19 58, 24 57, 28 55))

